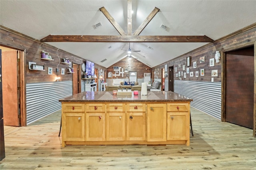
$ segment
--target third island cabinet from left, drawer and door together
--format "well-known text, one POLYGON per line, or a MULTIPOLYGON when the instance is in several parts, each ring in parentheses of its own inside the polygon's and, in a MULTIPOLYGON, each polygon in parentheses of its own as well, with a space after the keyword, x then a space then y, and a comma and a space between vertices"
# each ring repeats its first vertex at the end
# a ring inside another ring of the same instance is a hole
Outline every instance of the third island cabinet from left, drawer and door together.
POLYGON ((125 104, 107 104, 106 140, 125 141, 125 104))

